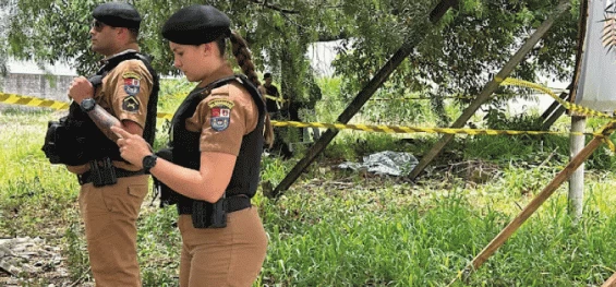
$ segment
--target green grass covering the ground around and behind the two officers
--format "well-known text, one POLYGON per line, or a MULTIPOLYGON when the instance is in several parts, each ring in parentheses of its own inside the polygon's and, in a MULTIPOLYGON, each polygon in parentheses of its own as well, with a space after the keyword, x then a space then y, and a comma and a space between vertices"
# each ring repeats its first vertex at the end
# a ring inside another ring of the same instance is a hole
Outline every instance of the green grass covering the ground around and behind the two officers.
MULTIPOLYGON (((169 99, 166 111, 181 100, 169 99)), ((0 237, 46 238, 62 248, 73 279, 90 280, 75 177, 40 151, 47 121, 59 116, 0 113, 0 237)), ((160 147, 167 128, 158 129, 160 147)), ((447 286, 568 162, 566 136, 464 136, 418 182, 331 168, 385 150, 422 155, 437 139, 342 131, 278 201, 258 192, 269 247, 255 286, 447 286)), ((264 158, 262 181, 278 184, 299 156, 264 158)), ((578 224, 567 214, 564 184, 467 284, 454 286, 581 287, 607 279, 616 266, 616 177, 606 150, 591 160, 578 224)), ((176 211, 150 201, 137 222, 144 286, 177 286, 176 211)), ((23 286, 49 284, 23 278, 23 286)))

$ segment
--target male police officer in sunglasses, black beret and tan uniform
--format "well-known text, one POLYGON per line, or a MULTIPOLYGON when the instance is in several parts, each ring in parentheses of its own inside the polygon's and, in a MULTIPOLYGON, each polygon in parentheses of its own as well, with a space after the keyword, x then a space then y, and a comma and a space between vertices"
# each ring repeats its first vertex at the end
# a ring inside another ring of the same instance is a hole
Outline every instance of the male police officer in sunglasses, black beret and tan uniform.
POLYGON ((104 3, 92 15, 92 49, 105 57, 102 68, 98 77, 74 79, 69 96, 94 122, 92 136, 101 136, 86 139, 85 153, 95 155, 92 160, 68 168, 78 175, 78 203, 96 286, 141 286, 136 219, 148 176, 141 165, 120 157, 118 136, 110 128, 153 142, 158 77, 138 53, 141 16, 132 5, 104 3))

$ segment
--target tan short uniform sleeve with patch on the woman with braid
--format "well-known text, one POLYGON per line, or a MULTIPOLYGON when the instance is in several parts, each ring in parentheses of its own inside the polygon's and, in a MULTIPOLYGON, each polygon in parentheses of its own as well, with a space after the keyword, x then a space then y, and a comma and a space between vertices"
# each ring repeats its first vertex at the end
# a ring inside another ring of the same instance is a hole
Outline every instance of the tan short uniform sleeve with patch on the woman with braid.
POLYGON ((235 85, 212 91, 186 120, 186 129, 201 130, 200 151, 238 156, 242 137, 257 123, 257 108, 251 95, 235 85))

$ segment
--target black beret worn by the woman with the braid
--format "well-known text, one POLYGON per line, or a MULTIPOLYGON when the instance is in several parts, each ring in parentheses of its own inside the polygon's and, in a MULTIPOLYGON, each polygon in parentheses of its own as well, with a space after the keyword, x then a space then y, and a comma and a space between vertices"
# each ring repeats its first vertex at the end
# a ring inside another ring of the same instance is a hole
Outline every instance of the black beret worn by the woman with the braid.
POLYGON ((173 13, 162 25, 162 37, 182 45, 200 45, 229 36, 231 20, 212 5, 194 4, 173 13))

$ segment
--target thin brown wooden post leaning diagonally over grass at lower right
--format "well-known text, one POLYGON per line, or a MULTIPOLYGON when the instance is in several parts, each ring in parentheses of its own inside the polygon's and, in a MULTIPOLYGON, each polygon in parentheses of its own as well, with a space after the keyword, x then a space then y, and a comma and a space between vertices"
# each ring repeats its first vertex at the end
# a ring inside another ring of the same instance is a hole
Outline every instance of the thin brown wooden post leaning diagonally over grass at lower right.
MULTIPOLYGON (((601 132, 605 137, 616 129, 616 121, 609 122, 601 132)), ((491 242, 485 247, 479 255, 476 255, 471 264, 467 266, 463 274, 469 275, 478 270, 496 250, 502 247, 516 230, 556 191, 556 189, 567 180, 580 165, 589 158, 589 156, 603 143, 602 137, 595 136, 582 151, 580 151, 571 162, 558 172, 556 177, 539 193, 522 212, 511 220, 491 242)), ((454 279, 456 282, 458 277, 454 279)), ((451 283, 454 283, 451 282, 451 283)))

